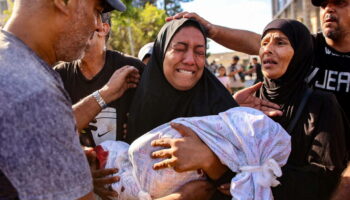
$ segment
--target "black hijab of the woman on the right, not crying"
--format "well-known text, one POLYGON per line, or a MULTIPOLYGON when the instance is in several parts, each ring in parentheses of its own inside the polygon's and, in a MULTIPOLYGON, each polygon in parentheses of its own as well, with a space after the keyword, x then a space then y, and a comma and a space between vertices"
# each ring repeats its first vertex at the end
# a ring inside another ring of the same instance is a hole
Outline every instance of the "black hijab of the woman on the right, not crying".
POLYGON ((264 76, 260 98, 281 106, 283 116, 275 117, 274 120, 286 129, 308 87, 305 78, 313 60, 312 36, 305 25, 290 19, 276 19, 269 23, 264 29, 262 38, 270 30, 279 30, 288 37, 294 55, 282 77, 269 79, 264 76))

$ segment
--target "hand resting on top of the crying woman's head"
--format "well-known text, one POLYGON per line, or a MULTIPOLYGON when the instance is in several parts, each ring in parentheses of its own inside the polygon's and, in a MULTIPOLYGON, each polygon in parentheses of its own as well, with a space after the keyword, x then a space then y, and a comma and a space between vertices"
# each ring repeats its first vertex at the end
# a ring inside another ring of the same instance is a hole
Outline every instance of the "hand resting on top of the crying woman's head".
POLYGON ((204 18, 199 16, 197 13, 180 12, 174 16, 167 17, 166 21, 168 22, 168 21, 171 21, 174 19, 181 19, 181 18, 193 18, 193 19, 197 20, 207 30, 208 37, 210 37, 210 38, 214 38, 216 33, 217 33, 217 29, 216 29, 215 25, 211 24, 210 22, 208 22, 207 20, 205 20, 204 18))

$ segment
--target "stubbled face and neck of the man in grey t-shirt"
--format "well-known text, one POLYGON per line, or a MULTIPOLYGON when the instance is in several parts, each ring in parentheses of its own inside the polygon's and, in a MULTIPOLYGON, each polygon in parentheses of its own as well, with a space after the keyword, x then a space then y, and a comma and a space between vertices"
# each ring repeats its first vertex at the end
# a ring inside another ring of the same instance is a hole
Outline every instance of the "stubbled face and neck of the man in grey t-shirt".
POLYGON ((101 0, 16 0, 4 30, 49 64, 70 62, 83 56, 88 40, 102 29, 102 11, 101 0))

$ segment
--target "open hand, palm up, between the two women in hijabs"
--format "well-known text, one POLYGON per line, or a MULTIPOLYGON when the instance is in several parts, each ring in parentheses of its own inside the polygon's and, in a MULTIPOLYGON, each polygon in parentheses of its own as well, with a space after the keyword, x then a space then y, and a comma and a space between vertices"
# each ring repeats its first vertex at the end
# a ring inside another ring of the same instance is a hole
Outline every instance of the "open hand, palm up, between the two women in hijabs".
POLYGON ((283 113, 282 111, 278 110, 280 107, 277 104, 262 100, 254 96, 254 93, 261 88, 262 84, 263 83, 260 82, 249 88, 242 89, 236 92, 233 95, 233 98, 240 106, 258 109, 269 117, 281 116, 283 113))

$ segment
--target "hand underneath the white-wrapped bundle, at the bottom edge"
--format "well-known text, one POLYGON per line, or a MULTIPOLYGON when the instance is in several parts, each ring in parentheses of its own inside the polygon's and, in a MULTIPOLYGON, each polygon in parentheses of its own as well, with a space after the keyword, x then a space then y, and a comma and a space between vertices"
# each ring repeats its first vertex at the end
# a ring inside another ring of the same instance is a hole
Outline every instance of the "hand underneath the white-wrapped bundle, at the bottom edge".
POLYGON ((214 187, 208 181, 191 181, 177 192, 156 200, 209 200, 213 193, 214 187))

